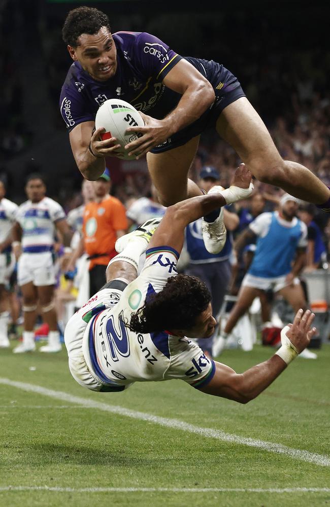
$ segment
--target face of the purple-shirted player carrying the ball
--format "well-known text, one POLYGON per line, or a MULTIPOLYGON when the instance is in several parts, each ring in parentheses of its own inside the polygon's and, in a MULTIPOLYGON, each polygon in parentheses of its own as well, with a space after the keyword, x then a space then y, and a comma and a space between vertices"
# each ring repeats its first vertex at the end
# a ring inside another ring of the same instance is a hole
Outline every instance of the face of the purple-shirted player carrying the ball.
POLYGON ((117 70, 117 50, 111 33, 103 26, 94 35, 82 33, 78 46, 68 46, 73 60, 79 61, 83 69, 96 81, 107 81, 117 70))

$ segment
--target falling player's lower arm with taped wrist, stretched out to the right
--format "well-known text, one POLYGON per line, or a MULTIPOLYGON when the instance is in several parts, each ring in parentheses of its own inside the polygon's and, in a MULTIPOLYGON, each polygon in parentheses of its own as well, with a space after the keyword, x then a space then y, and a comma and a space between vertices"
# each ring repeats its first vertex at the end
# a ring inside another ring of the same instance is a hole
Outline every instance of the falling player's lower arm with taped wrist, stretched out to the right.
POLYGON ((296 313, 293 324, 281 333, 282 346, 270 359, 242 374, 221 363, 215 363, 216 372, 210 383, 201 391, 221 396, 239 403, 248 403, 265 390, 287 367, 287 365, 309 344, 316 329, 311 325, 314 313, 302 309, 296 313))

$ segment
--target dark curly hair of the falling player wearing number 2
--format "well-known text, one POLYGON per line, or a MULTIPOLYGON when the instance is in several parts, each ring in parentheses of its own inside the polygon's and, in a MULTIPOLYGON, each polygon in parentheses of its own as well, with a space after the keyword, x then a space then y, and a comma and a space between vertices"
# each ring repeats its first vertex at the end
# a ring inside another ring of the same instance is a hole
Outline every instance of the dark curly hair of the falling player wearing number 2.
POLYGON ((162 291, 147 297, 144 306, 131 315, 128 327, 135 333, 189 329, 210 301, 209 289, 196 276, 172 276, 162 291))

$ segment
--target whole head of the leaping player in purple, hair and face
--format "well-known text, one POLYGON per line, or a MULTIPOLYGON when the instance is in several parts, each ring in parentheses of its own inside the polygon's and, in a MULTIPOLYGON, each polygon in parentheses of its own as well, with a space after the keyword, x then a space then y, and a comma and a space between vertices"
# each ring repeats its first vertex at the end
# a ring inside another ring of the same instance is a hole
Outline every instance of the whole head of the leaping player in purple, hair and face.
POLYGON ((96 81, 107 81, 117 70, 117 51, 111 36, 108 16, 93 7, 78 7, 69 12, 62 38, 73 60, 96 81))

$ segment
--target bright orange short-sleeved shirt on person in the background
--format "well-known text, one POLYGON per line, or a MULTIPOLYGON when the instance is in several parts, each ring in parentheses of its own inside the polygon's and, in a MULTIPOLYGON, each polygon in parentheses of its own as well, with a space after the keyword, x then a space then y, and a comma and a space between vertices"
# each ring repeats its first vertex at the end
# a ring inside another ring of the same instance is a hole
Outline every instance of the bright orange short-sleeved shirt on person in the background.
POLYGON ((117 231, 126 229, 126 209, 116 197, 108 195, 101 202, 86 204, 82 229, 85 251, 88 256, 104 254, 91 259, 89 269, 96 264, 108 264, 116 255, 117 231))

